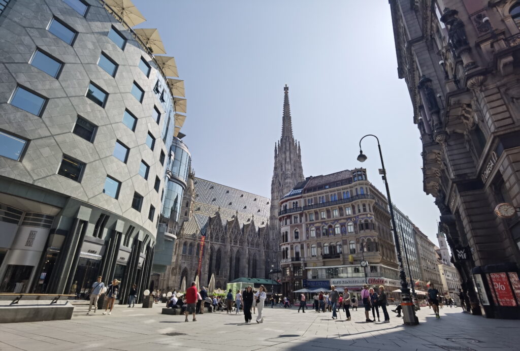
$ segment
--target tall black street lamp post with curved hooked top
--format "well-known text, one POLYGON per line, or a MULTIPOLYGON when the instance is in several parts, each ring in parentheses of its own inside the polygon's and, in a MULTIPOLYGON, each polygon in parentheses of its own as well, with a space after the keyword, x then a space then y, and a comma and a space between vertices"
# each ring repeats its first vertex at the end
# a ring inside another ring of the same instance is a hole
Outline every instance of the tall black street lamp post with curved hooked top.
POLYGON ((399 278, 401 279, 401 308, 403 314, 403 321, 408 325, 417 325, 419 324, 419 319, 415 316, 415 311, 413 309, 413 303, 410 298, 410 289, 408 288, 408 282, 406 281, 405 269, 402 264, 402 255, 401 255, 401 247, 399 245, 399 237, 397 236, 397 226, 395 224, 395 216, 394 216, 394 206, 392 205, 392 199, 390 198, 390 190, 388 188, 388 179, 386 178, 386 169, 385 164, 383 162, 383 153, 381 152, 381 145, 379 144, 379 138, 373 134, 367 134, 363 136, 359 140, 359 155, 357 160, 359 162, 365 162, 367 160, 367 156, 363 154, 361 150, 361 141, 368 137, 373 136, 376 140, 378 140, 378 149, 379 149, 379 157, 381 158, 381 167, 383 168, 383 180, 385 181, 386 188, 386 197, 388 198, 388 208, 390 210, 390 217, 392 218, 392 228, 394 232, 394 241, 395 241, 395 249, 397 252, 397 261, 399 263, 399 278))

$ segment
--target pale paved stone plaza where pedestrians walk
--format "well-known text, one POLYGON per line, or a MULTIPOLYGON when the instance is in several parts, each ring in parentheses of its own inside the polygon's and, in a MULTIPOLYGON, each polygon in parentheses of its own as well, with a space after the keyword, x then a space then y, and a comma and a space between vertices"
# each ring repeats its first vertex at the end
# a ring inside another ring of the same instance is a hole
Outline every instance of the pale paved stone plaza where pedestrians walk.
MULTIPOLYGON (((160 304, 162 307, 163 304, 160 304)), ((295 308, 265 309, 263 324, 245 324, 242 315, 205 313, 186 323, 184 316, 161 315, 159 305, 144 309, 118 306, 111 316, 85 315, 76 306, 72 320, 0 324, 0 350, 505 350, 518 349, 520 322, 496 320, 444 308, 435 319, 423 308, 420 325, 365 323, 363 311, 352 321, 295 308), (167 333, 179 333, 165 335, 167 333)), ((253 315, 255 317, 255 315, 253 315)))

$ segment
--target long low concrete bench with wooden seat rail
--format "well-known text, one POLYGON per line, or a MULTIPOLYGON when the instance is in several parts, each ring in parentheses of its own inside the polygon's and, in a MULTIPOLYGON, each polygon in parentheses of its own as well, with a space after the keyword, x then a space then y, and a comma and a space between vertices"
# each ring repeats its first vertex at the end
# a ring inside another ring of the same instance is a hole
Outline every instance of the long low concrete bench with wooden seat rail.
POLYGON ((0 323, 71 319, 74 295, 0 294, 0 323))

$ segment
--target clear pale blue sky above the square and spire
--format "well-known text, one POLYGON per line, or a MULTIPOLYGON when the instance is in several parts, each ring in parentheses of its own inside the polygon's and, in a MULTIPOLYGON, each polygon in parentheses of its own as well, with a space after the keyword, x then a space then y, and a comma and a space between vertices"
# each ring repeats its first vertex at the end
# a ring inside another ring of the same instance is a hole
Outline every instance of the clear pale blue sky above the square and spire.
POLYGON ((394 203, 437 244, 419 131, 387 0, 134 0, 185 80, 182 132, 196 176, 270 197, 289 85, 305 176, 361 165, 380 190, 378 135, 394 203))

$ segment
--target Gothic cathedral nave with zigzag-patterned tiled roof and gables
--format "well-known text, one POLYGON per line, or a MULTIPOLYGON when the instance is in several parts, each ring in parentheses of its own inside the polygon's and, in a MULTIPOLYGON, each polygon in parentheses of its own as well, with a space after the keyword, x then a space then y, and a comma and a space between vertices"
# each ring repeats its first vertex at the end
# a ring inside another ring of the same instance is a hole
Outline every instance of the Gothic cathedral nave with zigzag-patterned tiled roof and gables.
POLYGON ((189 284, 199 269, 202 285, 207 285, 215 274, 215 289, 225 289, 227 282, 239 277, 265 278, 269 205, 265 197, 196 178, 191 173, 181 206, 173 262, 165 274, 153 277, 159 280, 159 288, 178 290, 183 278, 189 284))

